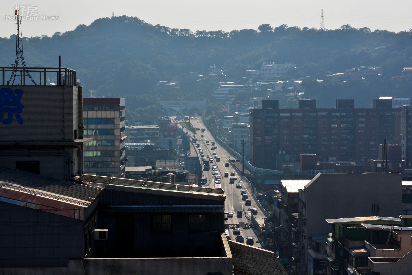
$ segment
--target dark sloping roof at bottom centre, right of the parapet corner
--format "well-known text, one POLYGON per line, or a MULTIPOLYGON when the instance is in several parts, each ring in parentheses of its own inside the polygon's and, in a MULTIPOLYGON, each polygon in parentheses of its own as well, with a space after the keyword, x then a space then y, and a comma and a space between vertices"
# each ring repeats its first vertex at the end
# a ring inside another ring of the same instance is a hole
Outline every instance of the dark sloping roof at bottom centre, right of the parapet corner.
POLYGON ((272 251, 228 240, 234 275, 287 275, 272 251), (257 266, 257 263, 258 266, 257 266))

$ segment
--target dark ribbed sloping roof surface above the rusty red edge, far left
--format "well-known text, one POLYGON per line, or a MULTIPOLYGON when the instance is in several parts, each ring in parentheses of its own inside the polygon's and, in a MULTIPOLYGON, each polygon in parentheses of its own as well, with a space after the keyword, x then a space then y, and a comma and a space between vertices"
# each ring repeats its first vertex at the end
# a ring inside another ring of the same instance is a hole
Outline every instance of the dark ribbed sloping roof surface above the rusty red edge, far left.
POLYGON ((71 181, 63 181, 61 179, 47 178, 38 174, 33 174, 23 170, 17 170, 5 166, 0 166, 0 181, 5 184, 19 186, 19 188, 35 189, 38 194, 53 197, 56 199, 82 200, 86 202, 93 202, 94 199, 101 192, 100 188, 87 186, 81 183, 73 183, 71 181))

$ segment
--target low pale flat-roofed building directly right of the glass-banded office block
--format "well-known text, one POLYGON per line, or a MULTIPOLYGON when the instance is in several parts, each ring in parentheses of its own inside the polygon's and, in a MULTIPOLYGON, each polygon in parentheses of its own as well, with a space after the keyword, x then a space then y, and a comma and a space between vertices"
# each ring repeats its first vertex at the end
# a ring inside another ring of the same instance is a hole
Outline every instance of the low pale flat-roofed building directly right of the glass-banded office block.
POLYGON ((159 127, 126 126, 126 143, 155 143, 159 147, 159 127))

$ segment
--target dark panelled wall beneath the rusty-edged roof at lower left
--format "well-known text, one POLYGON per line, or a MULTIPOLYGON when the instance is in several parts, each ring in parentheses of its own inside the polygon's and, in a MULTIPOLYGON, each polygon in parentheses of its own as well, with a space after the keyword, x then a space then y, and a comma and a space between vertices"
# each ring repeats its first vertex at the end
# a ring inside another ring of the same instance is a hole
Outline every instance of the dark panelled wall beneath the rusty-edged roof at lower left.
POLYGON ((67 266, 69 259, 83 257, 81 220, 0 202, 0 221, 0 270, 67 266))

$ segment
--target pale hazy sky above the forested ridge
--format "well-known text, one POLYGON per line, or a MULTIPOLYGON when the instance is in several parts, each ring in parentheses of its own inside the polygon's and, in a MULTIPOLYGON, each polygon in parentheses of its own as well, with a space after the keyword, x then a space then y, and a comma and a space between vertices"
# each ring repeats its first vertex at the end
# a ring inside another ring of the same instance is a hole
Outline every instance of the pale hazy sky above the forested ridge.
MULTIPOLYGON (((254 28, 260 24, 281 24, 319 28, 321 9, 325 28, 336 29, 344 24, 356 28, 368 27, 388 31, 412 28, 412 0, 0 0, 0 37, 16 33, 14 16, 16 4, 28 5, 37 12, 36 21, 22 23, 23 36, 53 35, 57 31, 73 30, 80 24, 89 25, 97 18, 136 16, 147 23, 171 28, 224 30, 254 28), (61 16, 47 20, 42 16, 61 16)), ((33 17, 33 15, 32 15, 33 17)))

